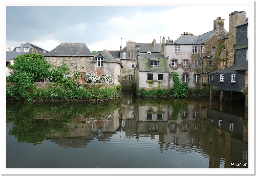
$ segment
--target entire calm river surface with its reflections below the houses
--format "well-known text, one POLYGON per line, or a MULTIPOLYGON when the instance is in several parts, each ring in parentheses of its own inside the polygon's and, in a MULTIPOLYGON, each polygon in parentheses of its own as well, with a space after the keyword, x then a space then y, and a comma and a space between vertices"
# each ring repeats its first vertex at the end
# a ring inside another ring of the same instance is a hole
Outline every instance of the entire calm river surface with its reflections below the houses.
POLYGON ((8 101, 6 115, 6 168, 249 166, 248 108, 239 102, 124 94, 100 103, 8 101))

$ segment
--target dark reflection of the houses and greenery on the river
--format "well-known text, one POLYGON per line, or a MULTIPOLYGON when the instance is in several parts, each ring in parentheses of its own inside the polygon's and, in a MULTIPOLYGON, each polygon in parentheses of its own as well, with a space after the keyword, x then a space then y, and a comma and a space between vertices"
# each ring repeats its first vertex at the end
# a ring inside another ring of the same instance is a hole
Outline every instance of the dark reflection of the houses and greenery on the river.
POLYGON ((9 135, 18 142, 48 140, 62 148, 84 148, 95 139, 114 141, 124 131, 126 140, 157 142, 160 153, 199 154, 208 159, 208 168, 248 162, 248 109, 239 103, 124 94, 108 103, 7 102, 6 112, 9 135))

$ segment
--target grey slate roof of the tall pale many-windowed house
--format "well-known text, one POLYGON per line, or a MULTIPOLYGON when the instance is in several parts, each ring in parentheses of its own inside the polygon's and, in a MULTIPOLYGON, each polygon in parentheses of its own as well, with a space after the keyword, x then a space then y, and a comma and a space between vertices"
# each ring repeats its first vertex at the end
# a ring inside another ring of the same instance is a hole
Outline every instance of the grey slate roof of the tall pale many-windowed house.
POLYGON ((196 35, 182 35, 180 36, 174 44, 178 45, 201 45, 205 43, 216 31, 209 31, 200 36, 196 35))

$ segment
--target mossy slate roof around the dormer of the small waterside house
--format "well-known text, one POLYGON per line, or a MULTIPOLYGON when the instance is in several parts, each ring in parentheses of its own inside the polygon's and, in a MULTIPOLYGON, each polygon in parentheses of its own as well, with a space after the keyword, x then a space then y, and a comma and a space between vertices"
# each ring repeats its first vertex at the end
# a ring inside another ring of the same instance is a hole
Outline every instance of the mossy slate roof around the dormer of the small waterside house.
POLYGON ((139 72, 169 72, 167 59, 161 54, 143 54, 138 57, 139 72), (151 68, 151 60, 159 60, 159 69, 151 68))

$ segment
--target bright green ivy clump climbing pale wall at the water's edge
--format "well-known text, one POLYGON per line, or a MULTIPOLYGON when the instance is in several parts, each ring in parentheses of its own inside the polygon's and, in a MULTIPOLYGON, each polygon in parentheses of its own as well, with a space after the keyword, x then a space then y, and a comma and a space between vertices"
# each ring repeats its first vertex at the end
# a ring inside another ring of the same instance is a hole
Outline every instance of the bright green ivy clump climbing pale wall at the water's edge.
POLYGON ((174 80, 174 87, 172 92, 174 94, 174 97, 186 97, 189 90, 188 83, 187 82, 180 83, 178 73, 174 74, 173 80, 174 80))

